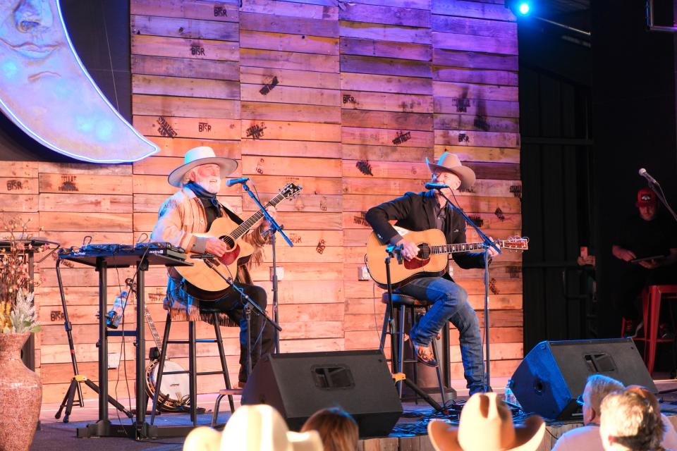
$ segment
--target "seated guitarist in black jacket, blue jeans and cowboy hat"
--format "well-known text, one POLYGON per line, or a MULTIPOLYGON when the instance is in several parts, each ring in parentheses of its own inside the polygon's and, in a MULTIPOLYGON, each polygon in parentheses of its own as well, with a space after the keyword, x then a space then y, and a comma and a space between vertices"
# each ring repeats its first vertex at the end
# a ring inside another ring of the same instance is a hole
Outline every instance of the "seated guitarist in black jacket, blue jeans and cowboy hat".
MULTIPOLYGON (((437 163, 431 163, 427 158, 425 161, 432 173, 432 182, 449 187, 442 189, 447 197, 452 195, 451 190, 468 188, 475 183, 475 173, 463 166, 456 154, 445 152, 437 163)), ((402 197, 374 206, 367 211, 365 218, 382 242, 403 247, 402 255, 406 260, 413 259, 418 248, 415 243, 399 235, 388 221, 396 220, 396 226, 418 232, 438 228, 446 236, 447 244, 465 242, 463 216, 453 211, 437 190, 407 192, 402 197)), ((493 248, 489 248, 488 252, 489 259, 497 254, 493 248)), ((453 259, 461 268, 484 267, 482 252, 459 252, 453 254, 453 259)), ((409 334, 419 361, 437 366, 429 344, 447 321, 451 321, 458 329, 464 375, 470 394, 484 390, 482 334, 477 314, 468 303, 468 293, 453 281, 449 273, 442 277, 417 278, 398 291, 432 304, 422 319, 412 326, 409 334)))

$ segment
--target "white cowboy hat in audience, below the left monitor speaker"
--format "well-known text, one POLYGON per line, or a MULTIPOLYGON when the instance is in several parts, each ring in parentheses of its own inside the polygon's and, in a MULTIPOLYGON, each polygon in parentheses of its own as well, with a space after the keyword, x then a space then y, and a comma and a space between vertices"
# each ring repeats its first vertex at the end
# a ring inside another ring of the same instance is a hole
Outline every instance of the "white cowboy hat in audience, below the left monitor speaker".
POLYGON ((289 431, 281 414, 264 404, 238 408, 224 433, 212 431, 206 427, 191 431, 183 451, 322 451, 317 431, 289 431))

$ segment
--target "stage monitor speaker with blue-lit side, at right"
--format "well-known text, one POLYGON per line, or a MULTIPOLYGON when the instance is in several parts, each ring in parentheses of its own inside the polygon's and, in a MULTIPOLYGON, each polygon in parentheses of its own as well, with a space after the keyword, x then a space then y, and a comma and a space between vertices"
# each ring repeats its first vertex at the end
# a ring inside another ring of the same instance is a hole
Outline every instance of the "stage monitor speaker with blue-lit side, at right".
POLYGON ((633 340, 614 338, 540 342, 513 374, 513 393, 525 412, 558 420, 580 418, 576 398, 595 373, 657 392, 633 340))

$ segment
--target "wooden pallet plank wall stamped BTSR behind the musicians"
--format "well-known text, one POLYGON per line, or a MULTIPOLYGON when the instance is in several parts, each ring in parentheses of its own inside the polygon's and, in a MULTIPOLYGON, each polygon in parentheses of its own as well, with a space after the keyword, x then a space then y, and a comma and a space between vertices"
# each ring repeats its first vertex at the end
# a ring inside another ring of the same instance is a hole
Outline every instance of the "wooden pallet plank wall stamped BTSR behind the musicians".
MULTIPOLYGON (((42 235, 64 246, 80 245, 83 235, 133 242, 150 233, 157 209, 174 191, 166 175, 187 149, 209 145, 236 159, 233 175, 249 177, 264 199, 285 183, 303 185, 297 199, 278 207, 295 243, 277 245, 283 352, 376 347, 382 290, 358 277, 370 232, 364 214, 422 190, 426 157, 460 154, 478 180, 457 194, 458 203, 489 235, 520 235, 517 28, 503 4, 132 0, 133 122, 161 152, 133 165, 13 163, 0 170, 7 182, 0 206, 32 218, 36 230, 42 226, 42 235)), ((220 194, 243 216, 255 211, 240 186, 220 194)), ((472 232, 468 237, 476 239, 472 232)), ((267 290, 271 250, 252 271, 267 290)), ((80 372, 96 380, 97 275, 71 266, 63 276, 80 372)), ((480 310, 481 270, 454 271, 480 310)), ((111 300, 118 280, 130 275, 109 271, 111 300)), ((54 260, 43 262, 41 279, 37 302, 45 330, 37 362, 44 400, 54 402, 72 373, 54 260)), ((148 271, 146 302, 160 333, 165 283, 164 270, 148 271)), ((492 375, 507 376, 523 355, 518 254, 496 259, 490 289, 492 375)), ((134 326, 129 316, 126 327, 134 326)), ((173 337, 186 334, 185 323, 172 327, 173 337)), ((198 331, 213 335, 204 323, 198 331)), ((235 378, 238 329, 223 333, 235 378)), ((460 379, 456 331, 451 337, 452 378, 460 379)), ((126 381, 133 391, 133 345, 129 340, 123 349, 111 340, 109 349, 126 352, 119 375, 109 372, 111 392, 126 397, 126 381)), ((187 366, 185 347, 176 345, 169 355, 187 366)), ((198 355, 201 368, 216 369, 216 347, 201 345, 198 355)), ((217 376, 199 382, 200 392, 221 385, 217 376)))

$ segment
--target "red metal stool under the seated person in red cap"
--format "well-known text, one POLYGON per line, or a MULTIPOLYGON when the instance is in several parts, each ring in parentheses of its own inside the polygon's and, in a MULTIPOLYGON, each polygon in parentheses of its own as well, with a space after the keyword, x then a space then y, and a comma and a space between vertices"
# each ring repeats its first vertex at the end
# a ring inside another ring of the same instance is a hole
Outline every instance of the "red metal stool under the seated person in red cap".
POLYGON ((673 338, 659 338, 659 313, 661 299, 677 299, 677 285, 649 285, 642 290, 642 311, 644 316, 644 336, 635 338, 646 342, 644 362, 649 373, 654 371, 656 362, 656 345, 673 342, 673 338))

